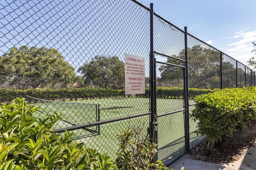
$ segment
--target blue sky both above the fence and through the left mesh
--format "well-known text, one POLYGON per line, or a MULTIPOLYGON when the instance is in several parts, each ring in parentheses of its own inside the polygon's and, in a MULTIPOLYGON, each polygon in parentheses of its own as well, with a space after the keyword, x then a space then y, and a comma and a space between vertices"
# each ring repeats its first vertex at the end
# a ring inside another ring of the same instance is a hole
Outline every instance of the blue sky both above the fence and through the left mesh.
MULTIPOLYGON (((0 1, 0 55, 14 45, 54 47, 76 68, 94 55, 148 57, 148 11, 130 0, 122 8, 109 0, 0 1)), ((255 56, 256 0, 138 1, 154 3, 157 14, 244 64, 255 56)))

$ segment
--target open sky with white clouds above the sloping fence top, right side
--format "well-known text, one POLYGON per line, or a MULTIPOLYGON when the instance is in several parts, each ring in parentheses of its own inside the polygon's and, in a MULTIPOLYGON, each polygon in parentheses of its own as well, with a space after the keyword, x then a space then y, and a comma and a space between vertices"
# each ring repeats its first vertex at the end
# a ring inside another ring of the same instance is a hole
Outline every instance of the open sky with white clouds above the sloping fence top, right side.
POLYGON ((256 42, 256 0, 138 0, 193 36, 247 65, 256 42))

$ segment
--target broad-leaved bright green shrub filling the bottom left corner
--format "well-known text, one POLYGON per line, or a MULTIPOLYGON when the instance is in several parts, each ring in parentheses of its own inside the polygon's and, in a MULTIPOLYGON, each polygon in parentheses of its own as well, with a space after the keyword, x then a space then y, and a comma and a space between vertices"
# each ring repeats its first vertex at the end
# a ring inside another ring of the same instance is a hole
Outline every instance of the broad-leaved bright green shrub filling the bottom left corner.
POLYGON ((68 131, 63 136, 53 133, 50 129, 60 119, 57 113, 36 121, 38 109, 24 98, 0 106, 0 169, 116 169, 107 154, 70 141, 68 131))

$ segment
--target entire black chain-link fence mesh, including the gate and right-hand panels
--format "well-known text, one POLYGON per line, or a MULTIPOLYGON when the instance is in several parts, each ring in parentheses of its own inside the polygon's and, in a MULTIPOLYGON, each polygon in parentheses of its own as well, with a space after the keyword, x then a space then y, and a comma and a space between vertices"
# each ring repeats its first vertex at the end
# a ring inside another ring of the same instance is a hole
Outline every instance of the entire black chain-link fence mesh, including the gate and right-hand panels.
MULTIPOLYGON (((158 159, 169 165, 186 153, 185 31, 154 13, 158 159), (178 60, 177 60, 178 58, 178 60), (171 64, 171 65, 170 65, 171 64)), ((255 85, 255 72, 188 34, 189 111, 194 96, 216 88, 255 85)), ((2 0, 0 101, 24 97, 56 111, 56 129, 116 157, 117 135, 150 124, 150 8, 136 0, 2 0), (125 54, 145 59, 145 93, 125 94, 125 54), (90 124, 90 125, 89 125, 90 124)), ((189 121, 189 147, 200 142, 189 121)))

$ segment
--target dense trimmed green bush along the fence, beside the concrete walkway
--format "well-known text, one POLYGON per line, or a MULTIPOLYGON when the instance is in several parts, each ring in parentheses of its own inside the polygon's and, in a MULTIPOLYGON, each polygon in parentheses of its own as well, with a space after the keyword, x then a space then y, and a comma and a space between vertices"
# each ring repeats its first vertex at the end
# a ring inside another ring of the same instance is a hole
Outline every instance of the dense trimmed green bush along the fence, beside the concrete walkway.
POLYGON ((221 141, 235 130, 242 131, 256 118, 256 87, 222 89, 194 98, 191 116, 198 120, 198 133, 210 142, 221 141))

